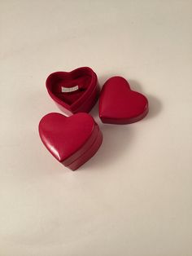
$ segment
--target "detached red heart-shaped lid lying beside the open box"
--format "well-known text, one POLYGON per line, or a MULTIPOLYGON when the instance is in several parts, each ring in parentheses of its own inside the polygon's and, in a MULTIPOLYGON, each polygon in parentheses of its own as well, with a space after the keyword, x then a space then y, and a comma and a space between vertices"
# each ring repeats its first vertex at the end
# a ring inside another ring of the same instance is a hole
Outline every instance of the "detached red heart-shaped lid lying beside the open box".
POLYGON ((131 90, 123 77, 111 77, 105 82, 99 98, 99 117, 104 123, 130 124, 148 113, 148 100, 131 90))

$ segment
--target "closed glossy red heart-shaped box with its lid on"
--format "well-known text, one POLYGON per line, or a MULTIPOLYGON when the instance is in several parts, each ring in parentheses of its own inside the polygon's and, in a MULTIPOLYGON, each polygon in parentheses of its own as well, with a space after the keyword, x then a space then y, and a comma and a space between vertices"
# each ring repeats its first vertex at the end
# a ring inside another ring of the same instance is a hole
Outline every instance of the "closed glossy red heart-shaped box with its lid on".
POLYGON ((71 117, 49 113, 39 123, 39 135, 50 153, 71 170, 93 157, 103 140, 98 124, 88 113, 71 117))

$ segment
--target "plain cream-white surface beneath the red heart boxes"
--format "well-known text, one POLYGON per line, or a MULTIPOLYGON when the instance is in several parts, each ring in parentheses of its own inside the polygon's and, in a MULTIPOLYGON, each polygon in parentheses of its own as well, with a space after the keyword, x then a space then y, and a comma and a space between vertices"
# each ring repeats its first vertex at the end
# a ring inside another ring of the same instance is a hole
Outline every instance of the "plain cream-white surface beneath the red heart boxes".
POLYGON ((192 1, 7 1, 1 14, 1 256, 192 255, 192 1), (49 73, 122 75, 150 113, 102 125, 72 172, 37 125, 49 73))

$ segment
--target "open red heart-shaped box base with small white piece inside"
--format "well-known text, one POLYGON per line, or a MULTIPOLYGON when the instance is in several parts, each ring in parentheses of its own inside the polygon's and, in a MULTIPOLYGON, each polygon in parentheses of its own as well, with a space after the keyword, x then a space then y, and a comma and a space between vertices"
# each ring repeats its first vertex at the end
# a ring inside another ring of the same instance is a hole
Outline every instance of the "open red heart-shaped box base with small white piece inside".
POLYGON ((98 77, 89 67, 76 68, 71 72, 55 72, 47 77, 46 89, 67 116, 72 113, 89 113, 98 100, 98 77), (76 86, 77 90, 70 91, 76 86))

